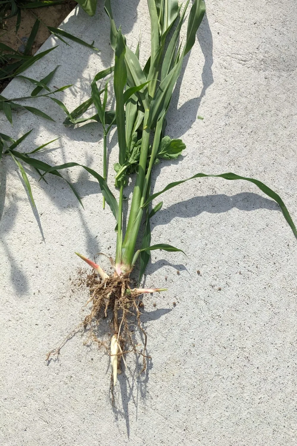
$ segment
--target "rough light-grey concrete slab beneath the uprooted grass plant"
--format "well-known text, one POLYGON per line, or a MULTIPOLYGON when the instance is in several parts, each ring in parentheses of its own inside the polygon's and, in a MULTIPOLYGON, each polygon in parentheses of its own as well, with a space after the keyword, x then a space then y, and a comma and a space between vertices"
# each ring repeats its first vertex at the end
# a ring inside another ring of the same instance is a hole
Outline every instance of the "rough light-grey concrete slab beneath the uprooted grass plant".
MULTIPOLYGON (((62 27, 94 39, 101 53, 58 42, 26 73, 40 79, 60 65, 50 85, 73 84, 57 95, 69 110, 89 97, 94 74, 112 62, 109 21, 99 3, 95 17, 73 12, 62 27)), ((112 4, 132 49, 142 30, 145 62, 146 2, 112 4)), ((181 161, 156 167, 155 191, 197 172, 232 171, 276 190, 297 221, 296 29, 294 1, 207 1, 207 16, 168 113, 167 133, 182 137, 187 150, 181 161), (204 121, 196 120, 197 113, 204 121)), ((51 38, 41 50, 55 44, 51 38)), ((30 84, 15 80, 3 94, 12 98, 31 91, 30 84)), ((15 138, 33 128, 23 151, 60 136, 40 159, 56 165, 77 161, 102 171, 99 124, 65 128, 65 115, 49 99, 27 105, 56 122, 19 112, 11 128, 1 115, 2 131, 15 138)), ((116 157, 112 132, 112 190, 116 157)), ((45 184, 33 171, 28 174, 34 215, 12 159, 1 161, 2 204, 5 190, 6 197, 0 444, 295 445, 297 241, 278 206, 248 182, 217 178, 193 180, 163 195, 152 243, 175 244, 188 257, 154 252, 145 283, 169 290, 144 297, 151 359, 147 373, 138 377, 134 357, 127 358, 112 409, 104 351, 84 346, 85 338, 77 335, 59 361, 47 365, 45 354, 85 314, 88 294, 69 281, 82 266, 73 251, 114 255, 113 215, 102 211, 98 184, 80 168, 67 175, 85 210, 58 178, 45 184)), ((109 268, 107 262, 102 259, 109 268)))

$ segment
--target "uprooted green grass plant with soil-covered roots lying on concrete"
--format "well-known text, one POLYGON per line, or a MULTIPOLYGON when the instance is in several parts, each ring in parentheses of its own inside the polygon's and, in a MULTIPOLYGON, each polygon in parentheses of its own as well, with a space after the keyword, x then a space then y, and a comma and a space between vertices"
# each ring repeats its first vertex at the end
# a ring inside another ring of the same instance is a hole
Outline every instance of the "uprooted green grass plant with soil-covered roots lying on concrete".
MULTIPOLYGON (((150 219, 162 207, 162 202, 159 202, 151 211, 149 210, 155 198, 166 190, 195 178, 221 177, 231 181, 245 180, 252 182, 279 204, 285 219, 297 236, 294 223, 279 195, 253 178, 242 177, 235 173, 217 175, 197 173, 191 178, 170 182, 159 192, 151 192, 151 173, 154 165, 162 158, 178 157, 185 149, 182 140, 171 139, 166 135, 167 111, 175 83, 181 73, 183 59, 195 44, 197 29, 205 12, 205 4, 203 0, 194 0, 190 7, 189 0, 183 6, 180 6, 177 0, 148 0, 148 8, 151 17, 151 55, 142 68, 138 60, 140 45, 138 44, 135 53, 126 45, 121 28, 117 28, 114 22, 110 0, 106 0, 105 9, 110 18, 110 41, 114 49, 114 67, 98 73, 91 85, 90 99, 72 113, 68 113, 65 120, 67 125, 88 119, 97 120, 103 126, 105 138, 110 125, 116 124, 118 131, 118 163, 114 165, 115 186, 119 190, 118 198, 115 198, 106 182, 106 142, 104 143, 104 174, 101 176, 96 173, 103 197, 115 218, 117 232, 115 258, 110 257, 113 273, 107 273, 101 266, 77 253, 94 268, 100 277, 100 280, 95 280, 91 285, 89 303, 92 308, 83 325, 89 328, 90 336, 94 341, 105 345, 109 351, 112 364, 112 386, 116 384, 121 361, 125 361, 125 354, 128 351, 142 355, 142 371, 146 368, 146 333, 140 323, 140 296, 142 293, 164 290, 163 288, 139 287, 150 252, 155 249, 181 251, 179 248, 162 243, 162 240, 158 244, 152 246, 150 244, 150 219), (180 33, 187 14, 187 31, 180 44, 180 33), (110 75, 113 76, 114 83, 115 112, 106 111, 107 83, 100 90, 97 86, 99 80, 102 81, 105 76, 110 75), (97 108, 97 113, 91 118, 80 118, 79 116, 92 104, 97 108), (124 190, 128 177, 133 173, 136 175, 136 182, 124 234, 124 190), (143 218, 145 219, 144 226, 142 225, 143 218), (140 235, 142 245, 140 249, 136 249, 136 242, 140 235), (133 287, 130 275, 138 261, 140 262, 138 287, 133 287), (107 317, 108 314, 111 314, 113 333, 110 336, 110 344, 106 345, 98 339, 96 328, 102 318, 107 317), (143 335, 141 351, 138 351, 138 344, 130 330, 130 324, 133 321, 143 335)), ((74 165, 78 164, 63 164, 48 169, 45 173, 74 165)), ((91 172, 90 168, 83 167, 94 175, 94 171, 91 172)), ((159 285, 162 287, 162 284, 159 285)), ((58 349, 50 352, 49 356, 58 354, 63 344, 64 341, 58 349)))

